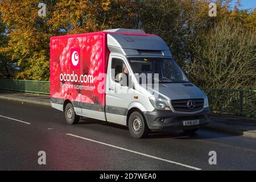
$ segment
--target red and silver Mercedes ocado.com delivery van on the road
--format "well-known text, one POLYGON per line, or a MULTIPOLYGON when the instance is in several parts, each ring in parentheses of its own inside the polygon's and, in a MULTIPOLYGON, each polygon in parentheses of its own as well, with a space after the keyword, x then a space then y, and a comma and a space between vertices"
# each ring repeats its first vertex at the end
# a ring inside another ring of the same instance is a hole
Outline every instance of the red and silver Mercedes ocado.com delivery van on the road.
POLYGON ((209 123, 207 96, 159 36, 118 28, 50 42, 51 106, 69 124, 94 118, 142 138, 150 130, 191 134, 209 123))

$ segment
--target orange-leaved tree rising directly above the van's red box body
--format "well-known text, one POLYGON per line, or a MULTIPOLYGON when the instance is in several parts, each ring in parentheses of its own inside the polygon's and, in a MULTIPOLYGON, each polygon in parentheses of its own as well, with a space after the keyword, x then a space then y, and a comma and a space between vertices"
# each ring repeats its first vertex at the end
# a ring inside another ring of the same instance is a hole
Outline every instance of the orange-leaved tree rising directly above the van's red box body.
POLYGON ((68 34, 93 32, 108 28, 133 28, 137 3, 129 0, 60 1, 49 23, 68 34))

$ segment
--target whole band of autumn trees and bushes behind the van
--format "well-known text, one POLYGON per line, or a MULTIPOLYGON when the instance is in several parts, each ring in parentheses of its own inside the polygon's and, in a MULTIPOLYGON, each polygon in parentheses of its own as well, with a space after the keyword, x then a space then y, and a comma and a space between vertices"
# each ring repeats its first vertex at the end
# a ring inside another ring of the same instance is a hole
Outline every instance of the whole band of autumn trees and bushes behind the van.
POLYGON ((240 10, 239 1, 231 7, 230 1, 217 0, 217 16, 209 17, 210 2, 2 0, 0 76, 49 80, 51 36, 141 28, 167 42, 174 58, 197 85, 255 88, 256 11, 240 10), (46 4, 46 16, 38 15, 40 2, 46 4))

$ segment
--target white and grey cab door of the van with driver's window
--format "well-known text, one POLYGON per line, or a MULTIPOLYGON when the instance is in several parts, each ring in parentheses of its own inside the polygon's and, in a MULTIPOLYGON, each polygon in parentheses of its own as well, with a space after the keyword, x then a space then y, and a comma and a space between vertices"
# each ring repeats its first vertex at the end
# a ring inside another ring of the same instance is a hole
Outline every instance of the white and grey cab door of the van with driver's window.
POLYGON ((109 122, 126 125, 127 107, 134 100, 135 90, 127 86, 125 76, 128 78, 132 72, 121 56, 110 56, 109 63, 106 80, 106 118, 109 122))

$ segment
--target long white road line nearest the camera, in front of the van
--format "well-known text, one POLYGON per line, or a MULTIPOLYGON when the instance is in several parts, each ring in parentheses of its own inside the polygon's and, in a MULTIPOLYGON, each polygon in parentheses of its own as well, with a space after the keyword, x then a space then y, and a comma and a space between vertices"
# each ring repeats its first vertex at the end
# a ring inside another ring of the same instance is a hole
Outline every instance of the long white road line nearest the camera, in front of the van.
POLYGON ((129 149, 127 149, 127 148, 122 148, 122 147, 118 147, 118 146, 113 146, 112 144, 108 144, 108 143, 104 143, 104 142, 98 142, 98 141, 93 140, 93 139, 80 137, 80 136, 73 135, 73 134, 70 134, 70 133, 67 133, 66 135, 69 135, 69 136, 72 136, 72 137, 76 137, 76 138, 80 138, 80 139, 84 139, 84 140, 88 140, 88 141, 90 141, 90 142, 95 142, 95 143, 104 144, 105 146, 109 146, 109 147, 113 147, 113 148, 118 148, 119 150, 124 150, 124 151, 128 151, 128 152, 132 152, 132 153, 134 153, 134 154, 143 155, 143 156, 146 156, 146 157, 148 157, 148 158, 162 160, 162 161, 167 162, 167 163, 176 164, 176 165, 179 165, 179 166, 183 166, 183 167, 187 167, 187 168, 191 168, 191 169, 195 169, 195 170, 201 170, 200 168, 197 168, 197 167, 188 166, 188 165, 186 165, 186 164, 177 163, 177 162, 174 162, 174 161, 171 161, 171 160, 167 160, 167 159, 163 159, 163 158, 158 158, 158 157, 156 157, 156 156, 152 156, 152 155, 148 155, 148 154, 143 154, 143 153, 141 153, 141 152, 129 150, 129 149))

